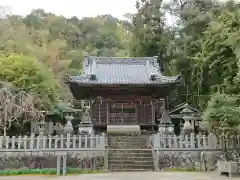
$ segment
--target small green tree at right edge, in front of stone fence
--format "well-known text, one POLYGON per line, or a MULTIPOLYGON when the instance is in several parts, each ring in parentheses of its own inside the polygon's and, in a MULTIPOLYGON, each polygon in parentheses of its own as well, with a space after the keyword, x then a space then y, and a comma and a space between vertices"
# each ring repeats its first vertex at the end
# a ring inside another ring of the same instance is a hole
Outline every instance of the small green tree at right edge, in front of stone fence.
MULTIPOLYGON (((226 160, 233 160, 232 153, 228 152, 228 141, 238 140, 234 137, 240 132, 240 104, 239 97, 216 93, 208 102, 203 113, 203 125, 217 135, 224 144, 226 160), (233 136, 234 135, 234 136, 233 136)), ((233 147, 234 144, 231 144, 233 147)))

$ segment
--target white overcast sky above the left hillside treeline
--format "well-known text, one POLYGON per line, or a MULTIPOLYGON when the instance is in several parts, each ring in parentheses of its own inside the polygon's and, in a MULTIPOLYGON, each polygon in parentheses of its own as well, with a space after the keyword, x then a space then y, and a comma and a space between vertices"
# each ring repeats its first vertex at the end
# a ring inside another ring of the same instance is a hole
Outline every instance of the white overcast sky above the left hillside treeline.
POLYGON ((125 13, 136 12, 136 0, 0 0, 0 5, 8 7, 12 14, 26 15, 32 9, 44 9, 66 17, 94 17, 111 14, 120 19, 125 13))

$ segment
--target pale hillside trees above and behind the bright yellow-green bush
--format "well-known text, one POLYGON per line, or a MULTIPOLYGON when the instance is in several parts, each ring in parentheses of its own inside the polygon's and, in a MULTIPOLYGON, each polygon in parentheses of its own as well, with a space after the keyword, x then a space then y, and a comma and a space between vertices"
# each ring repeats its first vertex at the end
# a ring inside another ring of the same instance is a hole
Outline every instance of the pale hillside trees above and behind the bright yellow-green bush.
POLYGON ((130 27, 131 23, 122 23, 111 15, 65 18, 35 9, 26 17, 8 15, 0 19, 0 53, 6 57, 23 54, 48 66, 55 83, 60 84, 60 98, 69 102, 65 75, 81 72, 85 53, 128 56, 130 27))

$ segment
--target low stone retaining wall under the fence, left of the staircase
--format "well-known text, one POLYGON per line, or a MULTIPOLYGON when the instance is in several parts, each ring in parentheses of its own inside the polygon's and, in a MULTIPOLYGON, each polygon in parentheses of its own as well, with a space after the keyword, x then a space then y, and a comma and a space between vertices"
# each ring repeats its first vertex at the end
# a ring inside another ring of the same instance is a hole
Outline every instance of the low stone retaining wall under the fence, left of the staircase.
MULTIPOLYGON (((12 153, 0 158, 0 170, 20 168, 56 168, 56 153, 12 153)), ((104 169, 104 153, 67 152, 67 167, 82 169, 104 169)))

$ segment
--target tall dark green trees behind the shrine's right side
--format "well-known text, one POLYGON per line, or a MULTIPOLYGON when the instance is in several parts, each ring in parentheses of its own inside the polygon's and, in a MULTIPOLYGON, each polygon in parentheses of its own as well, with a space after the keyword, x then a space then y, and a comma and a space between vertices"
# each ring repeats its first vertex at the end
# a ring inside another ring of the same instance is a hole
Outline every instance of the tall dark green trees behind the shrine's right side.
POLYGON ((240 4, 171 0, 159 6, 143 0, 133 16, 132 54, 158 55, 166 75, 183 76, 170 98, 205 109, 211 94, 239 92, 240 4), (160 10, 160 11, 159 11, 160 10), (169 23, 169 15, 175 22, 169 23))

